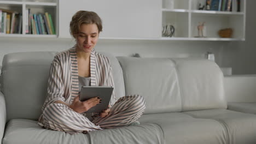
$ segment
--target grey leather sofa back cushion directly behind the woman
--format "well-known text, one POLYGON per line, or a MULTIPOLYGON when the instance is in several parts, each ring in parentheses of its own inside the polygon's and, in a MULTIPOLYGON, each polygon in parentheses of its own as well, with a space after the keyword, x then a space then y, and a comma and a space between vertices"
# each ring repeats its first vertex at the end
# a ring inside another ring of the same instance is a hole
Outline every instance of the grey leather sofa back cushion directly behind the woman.
MULTIPOLYGON (((7 106, 7 120, 38 119, 46 97, 50 64, 56 52, 17 52, 3 58, 1 91, 7 106)), ((104 53, 112 63, 115 91, 125 95, 123 73, 115 57, 104 53)))

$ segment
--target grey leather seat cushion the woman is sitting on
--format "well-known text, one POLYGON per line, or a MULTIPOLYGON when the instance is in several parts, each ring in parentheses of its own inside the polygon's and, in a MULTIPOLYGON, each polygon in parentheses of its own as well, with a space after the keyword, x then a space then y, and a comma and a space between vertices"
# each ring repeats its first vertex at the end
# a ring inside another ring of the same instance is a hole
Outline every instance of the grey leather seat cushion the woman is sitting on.
POLYGON ((141 124, 116 129, 70 135, 39 127, 37 121, 12 119, 5 130, 3 144, 20 143, 162 143, 162 131, 156 124, 141 124))

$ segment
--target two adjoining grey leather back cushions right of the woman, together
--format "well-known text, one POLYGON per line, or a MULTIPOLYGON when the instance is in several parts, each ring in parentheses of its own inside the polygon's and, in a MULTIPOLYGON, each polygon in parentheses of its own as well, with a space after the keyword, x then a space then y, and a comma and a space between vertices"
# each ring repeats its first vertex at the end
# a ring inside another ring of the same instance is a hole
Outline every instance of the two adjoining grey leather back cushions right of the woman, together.
POLYGON ((226 109, 223 73, 206 59, 118 57, 126 95, 146 100, 144 113, 226 109))

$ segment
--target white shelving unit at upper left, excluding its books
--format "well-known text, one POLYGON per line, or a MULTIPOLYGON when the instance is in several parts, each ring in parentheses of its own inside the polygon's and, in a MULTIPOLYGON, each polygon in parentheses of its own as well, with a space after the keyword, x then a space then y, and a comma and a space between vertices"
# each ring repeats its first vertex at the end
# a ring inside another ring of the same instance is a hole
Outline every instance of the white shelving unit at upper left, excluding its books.
POLYGON ((57 38, 58 34, 58 8, 57 2, 31 2, 31 1, 1 1, 0 8, 16 11, 22 14, 22 34, 4 34, 0 37, 28 37, 28 38, 57 38), (56 34, 26 34, 26 9, 31 10, 31 14, 48 12, 52 16, 56 34))

